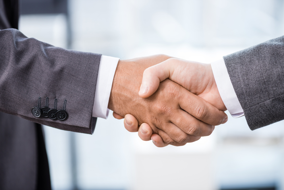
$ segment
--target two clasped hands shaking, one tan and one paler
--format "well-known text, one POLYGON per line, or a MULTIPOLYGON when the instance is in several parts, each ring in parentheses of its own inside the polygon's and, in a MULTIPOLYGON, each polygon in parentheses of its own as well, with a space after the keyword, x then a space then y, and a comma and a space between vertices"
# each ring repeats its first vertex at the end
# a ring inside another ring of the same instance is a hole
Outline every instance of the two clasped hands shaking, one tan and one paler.
POLYGON ((158 147, 194 142, 228 120, 211 65, 166 55, 120 60, 108 108, 158 147))

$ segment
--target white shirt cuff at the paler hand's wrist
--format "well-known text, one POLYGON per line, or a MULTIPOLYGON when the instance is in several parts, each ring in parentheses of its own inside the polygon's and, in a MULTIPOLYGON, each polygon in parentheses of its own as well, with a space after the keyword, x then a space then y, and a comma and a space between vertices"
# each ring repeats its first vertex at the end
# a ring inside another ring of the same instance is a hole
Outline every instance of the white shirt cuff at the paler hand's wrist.
POLYGON ((220 96, 232 117, 244 116, 244 111, 231 83, 224 60, 212 62, 211 67, 220 96))

